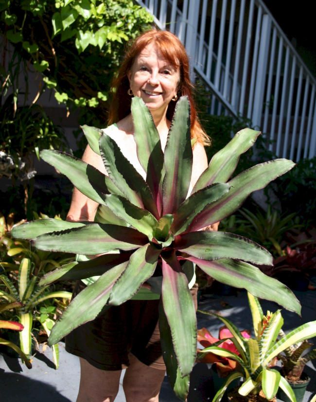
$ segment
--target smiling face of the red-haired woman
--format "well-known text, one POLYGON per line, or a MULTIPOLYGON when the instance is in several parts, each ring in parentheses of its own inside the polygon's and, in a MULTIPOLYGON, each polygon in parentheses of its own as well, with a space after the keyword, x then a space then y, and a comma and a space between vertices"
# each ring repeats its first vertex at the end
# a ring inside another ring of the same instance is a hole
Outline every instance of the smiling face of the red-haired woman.
POLYGON ((134 96, 142 98, 153 116, 160 116, 176 96, 180 73, 150 43, 135 58, 127 77, 134 96))

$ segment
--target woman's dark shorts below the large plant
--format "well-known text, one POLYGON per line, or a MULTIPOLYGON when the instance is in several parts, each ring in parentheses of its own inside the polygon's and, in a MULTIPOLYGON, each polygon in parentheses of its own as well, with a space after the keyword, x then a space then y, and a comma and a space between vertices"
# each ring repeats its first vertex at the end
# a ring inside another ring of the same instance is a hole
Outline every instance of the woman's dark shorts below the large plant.
MULTIPOLYGON (((73 297, 85 285, 78 281, 73 297)), ((196 308, 197 286, 191 289, 196 308)), ((66 336, 66 350, 102 370, 128 367, 128 354, 140 362, 165 370, 158 328, 159 300, 128 300, 111 306, 93 321, 66 336)))

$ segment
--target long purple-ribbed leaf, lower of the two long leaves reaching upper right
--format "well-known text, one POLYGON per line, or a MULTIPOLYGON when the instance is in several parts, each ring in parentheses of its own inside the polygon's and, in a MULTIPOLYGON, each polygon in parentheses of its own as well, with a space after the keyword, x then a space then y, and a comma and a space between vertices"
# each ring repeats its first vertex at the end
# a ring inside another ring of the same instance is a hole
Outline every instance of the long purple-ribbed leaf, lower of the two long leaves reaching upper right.
POLYGON ((260 163, 238 174, 228 182, 230 186, 228 193, 204 208, 193 220, 190 230, 199 230, 221 221, 236 211, 251 192, 263 189, 270 181, 288 172, 294 166, 295 163, 290 160, 275 159, 260 163))

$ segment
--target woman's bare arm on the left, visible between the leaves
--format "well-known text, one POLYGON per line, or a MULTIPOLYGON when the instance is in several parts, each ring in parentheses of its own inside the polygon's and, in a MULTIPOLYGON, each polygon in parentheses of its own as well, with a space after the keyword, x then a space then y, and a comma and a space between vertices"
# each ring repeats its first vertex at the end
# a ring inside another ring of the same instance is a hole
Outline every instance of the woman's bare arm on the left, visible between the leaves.
MULTIPOLYGON (((106 174, 103 160, 100 155, 96 154, 87 146, 82 160, 94 166, 100 172, 106 174)), ((67 214, 68 221, 93 221, 99 204, 92 201, 86 195, 82 194, 76 188, 73 189, 70 210, 67 214)))

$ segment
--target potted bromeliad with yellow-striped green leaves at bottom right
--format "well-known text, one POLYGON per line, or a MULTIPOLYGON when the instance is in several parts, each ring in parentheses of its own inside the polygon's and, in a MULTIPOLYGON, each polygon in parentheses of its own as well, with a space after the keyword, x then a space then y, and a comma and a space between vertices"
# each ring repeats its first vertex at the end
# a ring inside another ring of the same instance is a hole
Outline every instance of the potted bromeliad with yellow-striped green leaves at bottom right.
POLYGON ((211 346, 205 347, 199 353, 202 356, 211 355, 209 359, 213 361, 220 357, 235 363, 233 368, 230 364, 228 375, 212 402, 219 402, 229 384, 237 378, 242 378, 243 381, 230 394, 230 397, 228 396, 231 401, 236 397, 239 401, 276 400, 276 394, 280 390, 283 392, 281 394, 283 401, 298 402, 291 381, 289 381, 291 378, 288 370, 290 367, 294 371, 301 369, 300 372, 297 372, 298 379, 300 379, 304 365, 308 360, 316 357, 316 350, 306 354, 305 358, 299 357, 311 345, 306 342, 306 339, 316 336, 316 321, 300 325, 285 335, 281 329, 283 325, 281 310, 277 310, 275 313, 268 311, 264 316, 257 297, 248 292, 248 301, 254 338, 245 337, 245 334, 241 333, 228 319, 204 312, 216 316, 225 324, 229 331, 229 338, 211 342, 211 346), (224 341, 231 342, 235 350, 232 347, 225 347, 224 341), (283 362, 281 373, 273 368, 278 360, 283 362))

